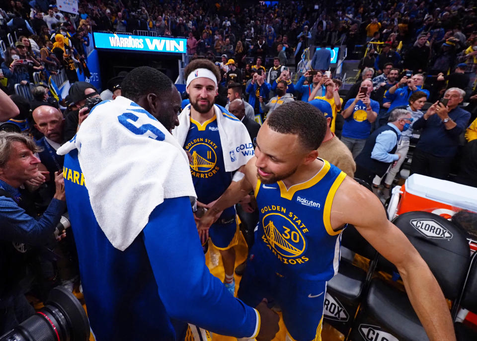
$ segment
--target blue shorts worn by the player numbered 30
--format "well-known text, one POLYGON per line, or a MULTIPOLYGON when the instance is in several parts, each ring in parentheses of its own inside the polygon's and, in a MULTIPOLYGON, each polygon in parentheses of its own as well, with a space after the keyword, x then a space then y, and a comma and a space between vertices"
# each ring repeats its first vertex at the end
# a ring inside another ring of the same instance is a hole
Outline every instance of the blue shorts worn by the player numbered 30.
POLYGON ((250 258, 237 297, 251 307, 256 307, 263 298, 273 300, 282 310, 292 340, 320 341, 326 281, 285 277, 263 259, 250 258))

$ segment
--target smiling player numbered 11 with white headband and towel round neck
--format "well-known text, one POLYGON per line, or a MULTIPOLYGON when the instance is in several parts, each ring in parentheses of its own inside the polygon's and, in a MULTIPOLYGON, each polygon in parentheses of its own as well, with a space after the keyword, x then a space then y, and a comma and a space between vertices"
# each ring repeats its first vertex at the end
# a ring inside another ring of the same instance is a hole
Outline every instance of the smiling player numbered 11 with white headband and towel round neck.
MULTIPOLYGON (((209 60, 194 60, 185 68, 184 76, 190 105, 182 110, 179 126, 172 134, 190 154, 190 172, 198 205, 206 206, 224 193, 234 176, 242 174, 242 166, 253 157, 253 145, 239 119, 214 104, 219 68, 209 60)), ((224 283, 234 295, 234 246, 239 242, 234 206, 224 210, 210 230, 202 232, 203 244, 209 236, 222 256, 224 283)))

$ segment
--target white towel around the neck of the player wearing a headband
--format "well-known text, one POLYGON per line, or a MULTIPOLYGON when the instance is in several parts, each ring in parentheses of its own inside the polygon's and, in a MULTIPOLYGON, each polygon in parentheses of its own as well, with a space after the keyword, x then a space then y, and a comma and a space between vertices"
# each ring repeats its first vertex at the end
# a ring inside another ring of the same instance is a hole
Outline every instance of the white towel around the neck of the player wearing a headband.
MULTIPOLYGON (((220 143, 224 155, 225 171, 237 171, 254 155, 253 144, 250 141, 247 128, 240 120, 229 113, 224 107, 214 104, 219 128, 220 143)), ((190 104, 179 115, 179 126, 172 130, 179 145, 185 144, 190 127, 190 104)))

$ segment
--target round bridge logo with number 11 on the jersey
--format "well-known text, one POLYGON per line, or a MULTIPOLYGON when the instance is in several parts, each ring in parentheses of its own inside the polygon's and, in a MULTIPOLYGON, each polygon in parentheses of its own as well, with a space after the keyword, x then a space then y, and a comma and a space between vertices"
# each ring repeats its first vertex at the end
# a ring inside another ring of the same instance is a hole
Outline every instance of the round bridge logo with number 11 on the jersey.
POLYGON ((219 171, 217 164, 217 145, 209 139, 194 139, 185 150, 191 155, 190 173, 195 177, 211 177, 219 171))

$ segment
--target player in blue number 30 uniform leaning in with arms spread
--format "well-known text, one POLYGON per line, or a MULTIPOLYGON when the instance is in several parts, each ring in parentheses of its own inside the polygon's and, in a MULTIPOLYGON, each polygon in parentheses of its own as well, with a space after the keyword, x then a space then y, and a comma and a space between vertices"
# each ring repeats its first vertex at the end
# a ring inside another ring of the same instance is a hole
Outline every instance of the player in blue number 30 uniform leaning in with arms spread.
POLYGON ((320 340, 326 281, 338 269, 339 235, 349 223, 397 266, 429 339, 455 341, 439 284, 379 199, 318 159, 325 129, 324 116, 308 103, 277 108, 258 132, 243 179, 201 219, 203 234, 214 215, 255 190, 259 224, 238 297, 252 305, 275 299, 293 340, 320 340))

